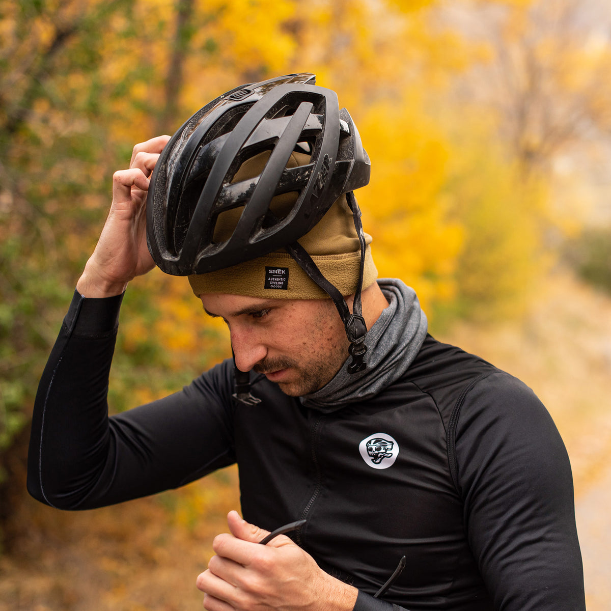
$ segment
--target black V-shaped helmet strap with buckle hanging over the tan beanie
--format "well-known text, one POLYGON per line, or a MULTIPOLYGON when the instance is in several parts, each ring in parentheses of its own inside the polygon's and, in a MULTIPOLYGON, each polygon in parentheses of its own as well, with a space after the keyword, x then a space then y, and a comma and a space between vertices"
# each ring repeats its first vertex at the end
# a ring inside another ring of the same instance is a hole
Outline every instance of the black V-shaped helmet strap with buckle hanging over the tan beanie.
POLYGON ((352 362, 348 365, 348 373, 357 373, 367 367, 365 364, 365 353, 367 352, 367 346, 365 346, 365 336, 367 335, 367 326, 365 325, 365 319, 363 318, 362 304, 360 301, 360 294, 363 288, 363 274, 365 269, 365 235, 363 232, 363 225, 360 222, 360 208, 356 202, 356 197, 352 191, 346 194, 348 205, 352 210, 354 227, 359 236, 360 244, 360 265, 359 265, 359 280, 357 283, 356 291, 354 293, 353 302, 353 313, 350 313, 348 304, 343 298, 342 293, 337 290, 334 285, 327 280, 316 263, 313 262, 312 257, 305 251, 304 247, 299 242, 293 242, 289 244, 286 249, 303 269, 303 271, 314 281, 316 284, 323 289, 335 304, 337 312, 342 318, 344 328, 346 329, 346 337, 350 342, 348 351, 352 356, 352 362))

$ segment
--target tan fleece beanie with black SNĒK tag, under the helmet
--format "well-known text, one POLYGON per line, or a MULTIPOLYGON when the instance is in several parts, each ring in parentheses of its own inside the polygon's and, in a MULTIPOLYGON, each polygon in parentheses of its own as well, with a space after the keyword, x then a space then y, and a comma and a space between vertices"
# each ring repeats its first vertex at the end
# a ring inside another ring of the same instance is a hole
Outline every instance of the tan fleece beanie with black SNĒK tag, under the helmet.
MULTIPOLYGON (((252 178, 263 170, 269 152, 247 160, 235 175, 234 182, 252 178)), ((307 163, 308 156, 293 153, 287 167, 307 163)), ((283 218, 293 203, 295 193, 276 196, 270 209, 283 218)), ((214 241, 229 238, 240 218, 241 208, 219 215, 214 241)), ((318 224, 299 239, 299 243, 312 257, 323 276, 335 285, 343 296, 356 291, 359 280, 360 246, 354 228, 353 214, 346 196, 339 197, 318 224)), ((378 277, 371 258, 371 236, 365 233, 365 268, 363 288, 367 288, 378 277)), ((238 263, 232 267, 206 274, 189 276, 189 283, 196 296, 204 293, 225 293, 264 299, 324 299, 328 298, 318 285, 299 267, 288 252, 276 251, 263 257, 238 263)))

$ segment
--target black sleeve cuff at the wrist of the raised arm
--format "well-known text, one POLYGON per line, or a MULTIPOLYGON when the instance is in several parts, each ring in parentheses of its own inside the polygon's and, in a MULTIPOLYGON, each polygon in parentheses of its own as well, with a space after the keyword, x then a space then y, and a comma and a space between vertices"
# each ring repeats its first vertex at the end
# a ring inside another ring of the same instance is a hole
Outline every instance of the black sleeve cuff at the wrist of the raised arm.
POLYGON ((119 326, 119 311, 123 295, 91 298, 75 290, 64 326, 68 334, 80 337, 106 337, 114 335, 119 326))

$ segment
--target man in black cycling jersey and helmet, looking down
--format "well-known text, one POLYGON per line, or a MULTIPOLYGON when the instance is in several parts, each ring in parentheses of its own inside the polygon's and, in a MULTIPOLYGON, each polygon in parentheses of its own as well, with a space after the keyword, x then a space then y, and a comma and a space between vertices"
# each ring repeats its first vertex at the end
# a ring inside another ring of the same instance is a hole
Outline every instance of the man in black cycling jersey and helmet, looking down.
POLYGON ((246 521, 229 514, 197 578, 210 611, 585 609, 549 414, 376 280, 352 193, 368 177, 312 75, 238 87, 137 145, 40 382, 31 494, 100 507, 237 463, 246 521), (122 294, 155 264, 189 276, 234 359, 109 419, 122 294))

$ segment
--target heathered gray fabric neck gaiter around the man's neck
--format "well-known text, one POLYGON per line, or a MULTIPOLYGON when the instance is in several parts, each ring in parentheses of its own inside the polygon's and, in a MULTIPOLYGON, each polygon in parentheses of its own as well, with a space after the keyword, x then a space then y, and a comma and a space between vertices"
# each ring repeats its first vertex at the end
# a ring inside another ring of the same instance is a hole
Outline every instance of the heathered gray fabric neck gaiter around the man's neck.
POLYGON ((347 360, 328 384, 300 398, 305 407, 328 413, 370 399, 399 379, 418 354, 427 327, 414 289, 394 278, 378 284, 389 305, 367 332, 367 368, 348 373, 347 360))

